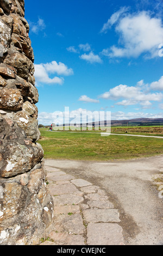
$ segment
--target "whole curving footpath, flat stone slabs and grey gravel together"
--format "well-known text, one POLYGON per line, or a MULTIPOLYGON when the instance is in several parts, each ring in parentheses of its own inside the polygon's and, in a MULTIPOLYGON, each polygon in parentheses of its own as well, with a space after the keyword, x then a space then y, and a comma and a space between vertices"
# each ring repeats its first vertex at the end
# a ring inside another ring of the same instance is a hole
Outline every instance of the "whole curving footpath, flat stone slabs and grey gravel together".
POLYGON ((54 200, 46 244, 163 245, 162 156, 45 165, 54 200))

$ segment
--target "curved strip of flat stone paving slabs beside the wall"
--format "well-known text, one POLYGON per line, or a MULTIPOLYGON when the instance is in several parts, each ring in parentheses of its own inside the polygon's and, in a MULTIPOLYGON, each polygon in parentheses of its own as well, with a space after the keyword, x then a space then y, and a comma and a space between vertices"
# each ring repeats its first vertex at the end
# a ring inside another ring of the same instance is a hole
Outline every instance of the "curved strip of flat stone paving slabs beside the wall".
POLYGON ((54 217, 49 240, 41 245, 124 245, 120 213, 105 191, 55 167, 46 169, 54 217))

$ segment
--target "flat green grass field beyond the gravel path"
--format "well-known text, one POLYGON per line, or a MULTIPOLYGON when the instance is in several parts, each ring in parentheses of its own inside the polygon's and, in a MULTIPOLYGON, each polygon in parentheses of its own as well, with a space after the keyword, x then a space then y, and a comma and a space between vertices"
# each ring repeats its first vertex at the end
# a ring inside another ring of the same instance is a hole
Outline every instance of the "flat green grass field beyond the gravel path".
POLYGON ((40 129, 39 140, 45 158, 110 161, 163 154, 163 138, 120 135, 102 137, 93 132, 71 133, 47 130, 40 129))

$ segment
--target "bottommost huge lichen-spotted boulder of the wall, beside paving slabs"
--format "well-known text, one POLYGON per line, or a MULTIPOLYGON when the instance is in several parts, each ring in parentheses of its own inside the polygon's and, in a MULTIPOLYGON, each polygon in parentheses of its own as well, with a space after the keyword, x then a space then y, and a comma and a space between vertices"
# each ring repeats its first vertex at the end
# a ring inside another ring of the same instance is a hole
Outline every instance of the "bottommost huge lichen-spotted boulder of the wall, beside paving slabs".
POLYGON ((35 168, 1 182, 1 245, 35 245, 51 221, 53 200, 47 190, 46 173, 39 164, 35 168))

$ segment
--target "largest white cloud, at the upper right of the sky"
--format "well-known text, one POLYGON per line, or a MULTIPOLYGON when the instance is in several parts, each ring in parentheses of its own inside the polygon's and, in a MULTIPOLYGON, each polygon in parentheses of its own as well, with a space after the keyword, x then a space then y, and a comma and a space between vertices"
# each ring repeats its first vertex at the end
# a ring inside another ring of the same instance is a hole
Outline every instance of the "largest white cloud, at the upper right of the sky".
POLYGON ((128 14, 121 9, 115 13, 115 19, 109 19, 108 26, 103 27, 103 32, 109 26, 116 23, 115 31, 120 35, 119 44, 103 49, 102 54, 110 58, 113 57, 134 57, 146 54, 147 58, 158 57, 158 46, 163 42, 162 21, 158 17, 151 17, 147 11, 128 14), (119 14, 119 15, 118 15, 119 14), (121 15, 120 15, 121 14, 121 15), (123 15, 122 15, 123 14, 123 15))

